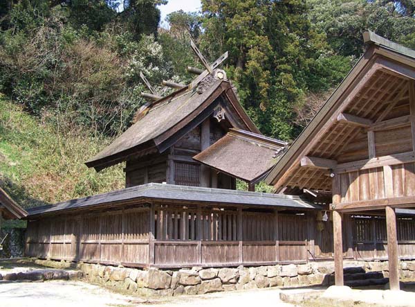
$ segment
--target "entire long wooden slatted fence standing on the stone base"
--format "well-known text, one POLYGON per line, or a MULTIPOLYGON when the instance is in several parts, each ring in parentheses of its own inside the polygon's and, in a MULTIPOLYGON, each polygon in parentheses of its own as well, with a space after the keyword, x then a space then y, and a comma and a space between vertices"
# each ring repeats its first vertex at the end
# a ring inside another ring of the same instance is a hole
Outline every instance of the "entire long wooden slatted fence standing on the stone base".
MULTIPOLYGON (((384 218, 346 220, 345 256, 387 257, 384 218)), ((400 257, 415 258, 412 218, 398 219, 398 239, 400 257)), ((148 204, 30 220, 26 255, 126 266, 264 265, 331 258, 332 241, 331 222, 322 222, 312 212, 283 214, 148 204)))

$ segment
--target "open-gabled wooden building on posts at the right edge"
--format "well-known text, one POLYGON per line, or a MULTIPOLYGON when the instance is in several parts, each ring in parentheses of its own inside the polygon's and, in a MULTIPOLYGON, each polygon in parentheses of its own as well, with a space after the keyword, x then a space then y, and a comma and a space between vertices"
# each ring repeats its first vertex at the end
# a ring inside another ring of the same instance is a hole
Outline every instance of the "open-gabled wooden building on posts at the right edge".
POLYGON ((343 284, 342 258, 349 254, 344 220, 386 216, 354 240, 362 252, 382 249, 396 289, 398 257, 415 255, 411 227, 396 218, 397 208, 415 206, 415 51, 371 32, 364 38, 365 54, 266 181, 285 193, 332 195, 336 285, 343 284))

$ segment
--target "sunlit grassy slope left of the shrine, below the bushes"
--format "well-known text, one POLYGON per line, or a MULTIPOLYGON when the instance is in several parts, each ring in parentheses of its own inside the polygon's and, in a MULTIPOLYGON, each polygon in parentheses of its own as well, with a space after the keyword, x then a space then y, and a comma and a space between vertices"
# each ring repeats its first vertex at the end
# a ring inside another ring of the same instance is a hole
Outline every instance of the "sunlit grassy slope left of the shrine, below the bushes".
POLYGON ((84 165, 109 141, 39 123, 0 96, 0 184, 25 208, 122 188, 122 166, 84 165))

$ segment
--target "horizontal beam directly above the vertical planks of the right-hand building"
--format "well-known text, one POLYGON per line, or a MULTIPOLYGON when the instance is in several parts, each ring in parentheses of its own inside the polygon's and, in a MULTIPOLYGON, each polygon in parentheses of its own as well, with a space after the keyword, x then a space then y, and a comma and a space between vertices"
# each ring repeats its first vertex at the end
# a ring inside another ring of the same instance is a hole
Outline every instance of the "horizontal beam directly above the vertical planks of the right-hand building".
POLYGON ((365 170, 368 168, 378 168, 385 165, 404 164, 415 161, 415 154, 412 151, 402 152, 394 155, 375 157, 353 162, 338 164, 335 168, 336 173, 349 173, 356 170, 365 170))

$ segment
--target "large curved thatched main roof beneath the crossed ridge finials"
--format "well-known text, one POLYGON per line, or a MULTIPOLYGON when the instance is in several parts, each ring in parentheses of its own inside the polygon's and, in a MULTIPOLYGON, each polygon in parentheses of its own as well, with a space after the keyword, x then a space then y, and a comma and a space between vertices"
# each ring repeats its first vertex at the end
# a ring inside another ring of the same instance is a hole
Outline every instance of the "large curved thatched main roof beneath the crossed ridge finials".
POLYGON ((221 104, 234 113, 237 128, 259 132, 243 110, 228 81, 206 77, 194 89, 187 87, 161 98, 142 110, 139 119, 127 131, 89 159, 86 166, 101 170, 125 161, 131 155, 163 152, 174 141, 199 125, 221 104))

